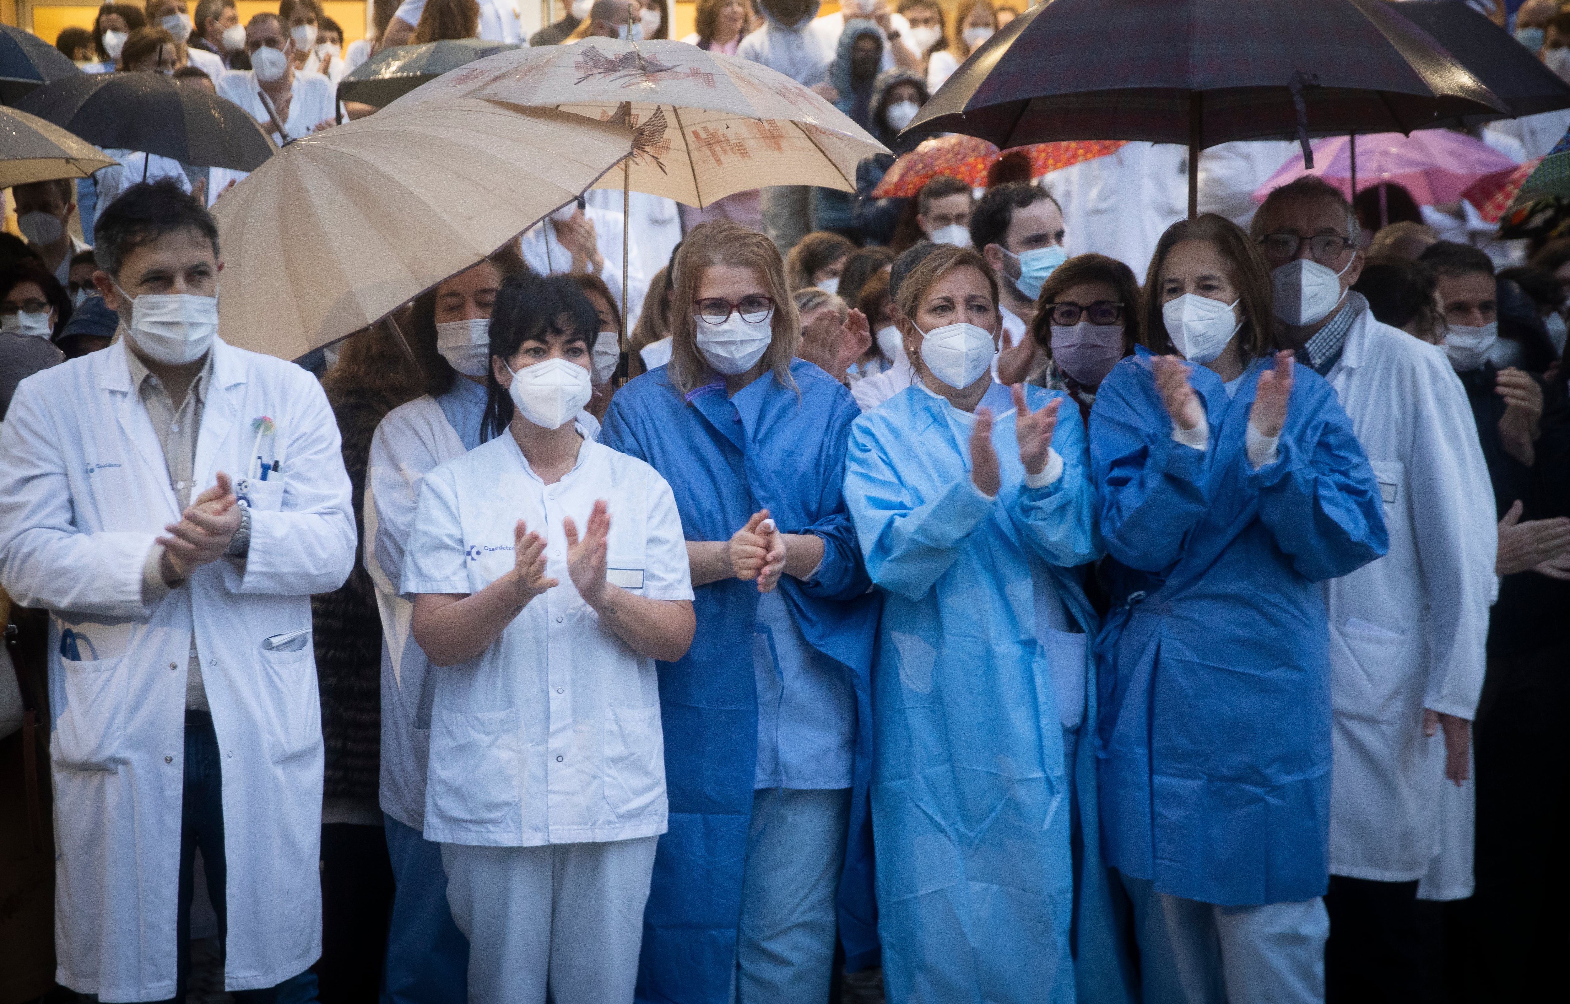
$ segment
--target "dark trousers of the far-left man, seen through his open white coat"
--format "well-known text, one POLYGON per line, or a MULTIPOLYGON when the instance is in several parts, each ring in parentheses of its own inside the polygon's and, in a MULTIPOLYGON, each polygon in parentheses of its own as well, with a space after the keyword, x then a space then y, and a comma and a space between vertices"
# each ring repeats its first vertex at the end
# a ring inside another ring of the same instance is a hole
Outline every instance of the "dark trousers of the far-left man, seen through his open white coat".
MULTIPOLYGON (((185 792, 181 802, 181 889, 179 968, 174 996, 165 1004, 185 1001, 190 982, 192 896, 196 893, 196 850, 201 849, 207 875, 207 896, 218 915, 218 943, 226 944, 229 919, 226 904, 228 866, 223 855, 223 764, 218 756, 218 734, 206 711, 185 712, 185 792)), ((276 987, 229 991, 240 1004, 309 1004, 316 1001, 316 973, 306 969, 276 987)))

